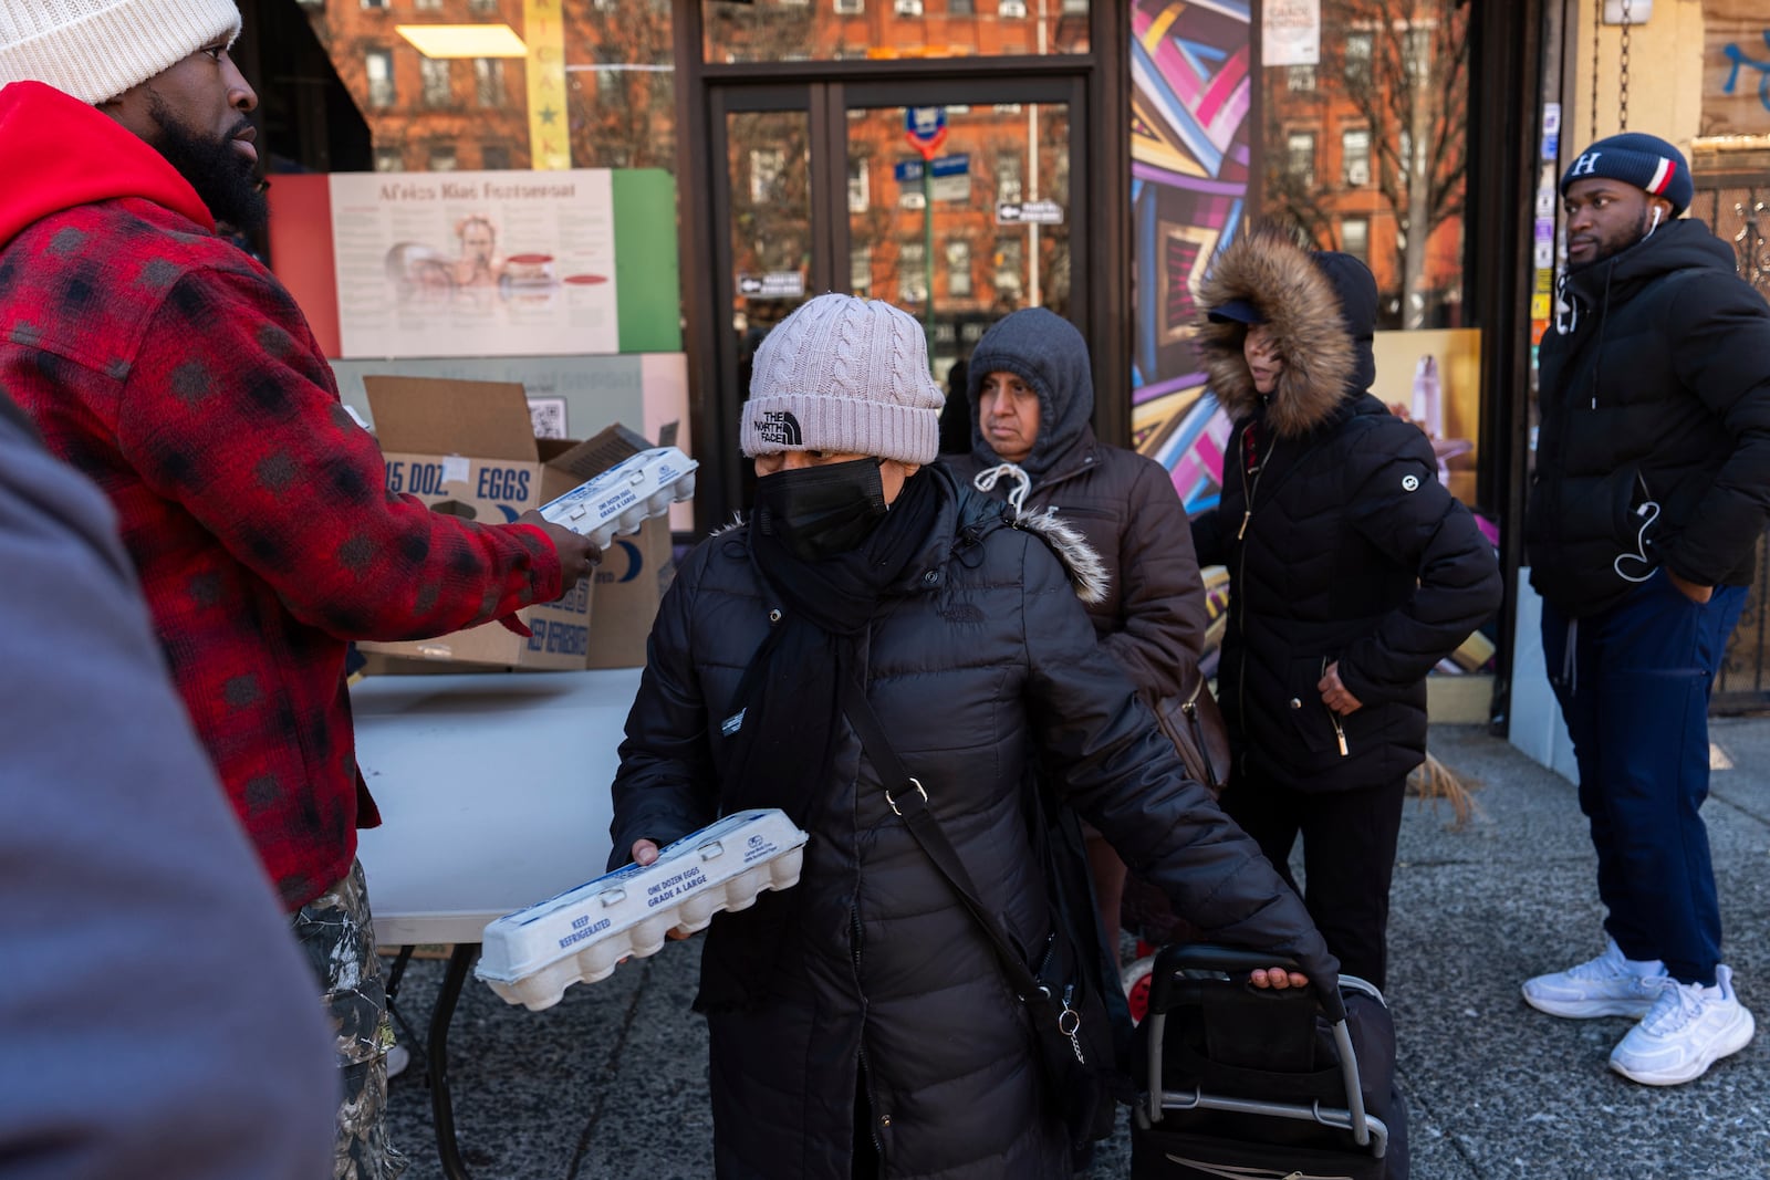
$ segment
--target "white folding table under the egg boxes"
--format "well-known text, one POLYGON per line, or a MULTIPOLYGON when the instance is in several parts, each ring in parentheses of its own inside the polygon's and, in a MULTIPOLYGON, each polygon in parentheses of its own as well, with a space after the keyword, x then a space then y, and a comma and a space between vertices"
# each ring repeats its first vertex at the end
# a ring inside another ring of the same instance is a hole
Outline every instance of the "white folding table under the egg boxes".
POLYGON ((453 943, 425 1070, 437 1153, 464 1180, 448 1028, 485 923, 600 876, 641 669, 370 676, 350 688, 356 759, 382 826, 359 833, 377 941, 453 943))

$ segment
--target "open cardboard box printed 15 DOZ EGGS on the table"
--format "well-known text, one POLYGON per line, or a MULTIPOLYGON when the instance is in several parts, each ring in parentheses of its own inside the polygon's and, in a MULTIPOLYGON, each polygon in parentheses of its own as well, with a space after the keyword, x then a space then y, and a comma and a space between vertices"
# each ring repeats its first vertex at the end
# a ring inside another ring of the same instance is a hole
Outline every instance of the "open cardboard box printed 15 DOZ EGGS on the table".
MULTIPOLYGON (((434 511, 508 524, 572 490, 588 444, 536 439, 522 386, 432 377, 365 377, 388 488, 434 511)), ((591 587, 584 579, 556 603, 524 607, 524 639, 499 623, 407 642, 359 642, 365 653, 451 663, 581 670, 589 649, 591 587)))

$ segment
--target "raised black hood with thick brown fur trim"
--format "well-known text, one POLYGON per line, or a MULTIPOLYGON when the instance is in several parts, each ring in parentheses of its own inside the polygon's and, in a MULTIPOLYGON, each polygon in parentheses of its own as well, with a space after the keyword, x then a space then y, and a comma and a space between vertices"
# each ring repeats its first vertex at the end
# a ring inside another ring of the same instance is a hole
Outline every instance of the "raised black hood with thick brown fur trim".
POLYGON ((1266 402, 1266 421, 1287 439, 1322 425, 1375 380, 1372 333, 1377 281, 1338 251, 1310 253, 1281 228, 1257 225, 1211 264, 1198 290, 1197 349, 1211 391, 1230 419, 1260 410, 1262 398, 1243 356, 1244 324, 1218 324, 1211 308, 1251 303, 1274 327, 1285 370, 1266 402))

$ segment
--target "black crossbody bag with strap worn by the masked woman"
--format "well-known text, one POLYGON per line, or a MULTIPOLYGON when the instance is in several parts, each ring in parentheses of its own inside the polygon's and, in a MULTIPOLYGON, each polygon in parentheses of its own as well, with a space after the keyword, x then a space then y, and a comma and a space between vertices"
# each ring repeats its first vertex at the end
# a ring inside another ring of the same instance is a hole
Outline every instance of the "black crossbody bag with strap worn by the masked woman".
MULTIPOLYGON (((979 900, 965 862, 947 840, 940 821, 927 808, 927 791, 897 761, 897 752, 885 738, 885 729, 880 725, 878 715, 873 713, 866 690, 851 679, 843 686, 843 711, 860 734, 860 745, 880 770, 880 778, 887 784, 897 784, 896 791, 885 791, 885 801, 890 803, 892 812, 903 817, 910 835, 952 886, 1002 961, 1002 973, 1007 977, 1009 987, 1032 1017, 1041 1076, 1053 1107, 1062 1115, 1069 1148, 1074 1155, 1083 1155, 1092 1141, 1104 1139, 1113 1132, 1117 1123, 1113 1104, 1131 1102, 1135 1097, 1129 1076, 1119 1069, 1117 1031, 1108 1012, 1104 980, 1097 969, 1089 968, 1090 961, 1101 959, 1099 938, 1087 941, 1076 934, 1078 916, 1089 923, 1094 920, 1085 862, 1080 862, 1083 877, 1078 897, 1073 881, 1066 881, 1073 874, 1064 872, 1053 858, 1046 805, 1041 801, 1034 807, 1037 817, 1034 835, 1043 833, 1044 837, 1035 839, 1034 847, 1044 860, 1051 932, 1044 946, 1037 950, 1037 964, 1028 966, 1000 922, 979 900)), ((1074 816, 1069 816, 1071 828, 1074 823, 1074 816)), ((1074 830, 1074 847, 1080 851, 1080 830, 1074 830)), ((1122 994, 1120 1007, 1124 1007, 1122 994)), ((1126 1010, 1127 1023, 1129 1012, 1126 1010)))

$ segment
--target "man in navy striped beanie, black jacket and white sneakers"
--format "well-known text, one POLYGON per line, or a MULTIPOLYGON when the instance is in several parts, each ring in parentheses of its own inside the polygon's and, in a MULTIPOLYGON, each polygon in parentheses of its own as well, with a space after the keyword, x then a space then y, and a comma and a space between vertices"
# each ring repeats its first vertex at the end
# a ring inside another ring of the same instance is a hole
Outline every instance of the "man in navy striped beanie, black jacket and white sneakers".
POLYGON ((1524 515, 1607 934, 1524 1000, 1639 1017, 1611 1069, 1653 1086, 1701 1077, 1756 1030, 1720 962, 1701 807, 1708 697, 1770 515, 1770 308, 1733 246, 1682 216, 1692 195, 1683 154, 1641 133, 1563 173, 1568 272, 1524 515))

